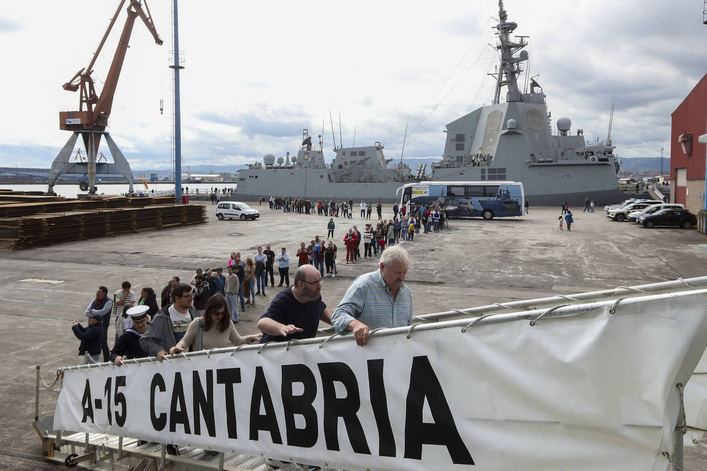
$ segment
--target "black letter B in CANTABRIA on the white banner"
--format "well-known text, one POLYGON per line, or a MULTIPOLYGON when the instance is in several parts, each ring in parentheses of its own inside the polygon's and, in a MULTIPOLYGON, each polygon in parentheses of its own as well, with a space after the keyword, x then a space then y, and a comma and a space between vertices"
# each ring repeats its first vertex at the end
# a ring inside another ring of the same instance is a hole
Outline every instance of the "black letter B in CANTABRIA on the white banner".
POLYGON ((303 448, 315 446, 319 437, 319 429, 317 427, 317 410, 312 405, 317 397, 317 381, 312 370, 304 364, 282 365, 281 395, 282 407, 285 412, 287 444, 303 448), (304 386, 302 395, 293 395, 292 383, 302 383, 304 386), (295 426, 295 415, 305 418, 305 428, 298 429, 295 426))

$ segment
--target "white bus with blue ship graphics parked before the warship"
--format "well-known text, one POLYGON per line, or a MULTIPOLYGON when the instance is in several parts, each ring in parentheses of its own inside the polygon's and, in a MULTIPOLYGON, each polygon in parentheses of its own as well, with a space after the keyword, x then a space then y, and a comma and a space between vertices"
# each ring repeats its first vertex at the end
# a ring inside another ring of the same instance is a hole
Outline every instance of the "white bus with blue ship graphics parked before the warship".
POLYGON ((520 181, 421 181, 401 186, 406 210, 441 206, 447 217, 522 216, 525 192, 520 181))

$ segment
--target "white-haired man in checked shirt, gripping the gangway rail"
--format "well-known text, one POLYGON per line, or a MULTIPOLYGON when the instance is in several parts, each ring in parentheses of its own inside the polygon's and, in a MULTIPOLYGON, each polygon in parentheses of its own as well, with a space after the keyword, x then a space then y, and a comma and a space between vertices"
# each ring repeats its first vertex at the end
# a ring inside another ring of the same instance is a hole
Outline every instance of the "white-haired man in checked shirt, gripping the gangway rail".
POLYGON ((356 278, 334 309, 332 324, 337 333, 353 332, 363 347, 371 329, 410 326, 412 295, 404 283, 409 266, 405 249, 395 245, 385 249, 380 270, 356 278))

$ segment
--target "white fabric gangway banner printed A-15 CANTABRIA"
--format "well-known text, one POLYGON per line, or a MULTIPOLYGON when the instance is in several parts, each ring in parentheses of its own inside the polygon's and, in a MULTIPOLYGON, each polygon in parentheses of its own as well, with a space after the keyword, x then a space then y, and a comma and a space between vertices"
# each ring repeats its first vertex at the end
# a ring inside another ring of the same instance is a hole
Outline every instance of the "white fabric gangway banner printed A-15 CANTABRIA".
POLYGON ((705 294, 66 369, 54 427, 346 470, 667 470, 705 294))

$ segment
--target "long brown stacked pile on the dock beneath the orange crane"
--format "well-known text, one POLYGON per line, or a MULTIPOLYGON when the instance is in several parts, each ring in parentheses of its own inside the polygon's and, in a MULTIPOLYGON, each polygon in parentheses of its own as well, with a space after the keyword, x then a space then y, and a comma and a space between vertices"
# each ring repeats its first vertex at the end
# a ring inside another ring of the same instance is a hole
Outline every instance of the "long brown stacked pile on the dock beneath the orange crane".
POLYGON ((206 206, 175 204, 170 197, 72 200, 0 191, 0 249, 6 250, 204 222, 206 206))

